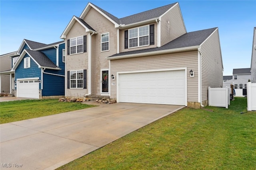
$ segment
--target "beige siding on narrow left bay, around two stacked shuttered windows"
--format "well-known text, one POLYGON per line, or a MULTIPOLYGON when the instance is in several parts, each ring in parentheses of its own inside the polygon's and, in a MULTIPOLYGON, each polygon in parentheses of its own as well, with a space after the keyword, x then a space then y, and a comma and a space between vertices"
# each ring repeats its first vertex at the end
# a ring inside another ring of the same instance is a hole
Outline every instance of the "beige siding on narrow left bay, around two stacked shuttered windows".
POLYGON ((65 96, 69 97, 84 97, 85 94, 88 94, 87 89, 68 89, 68 74, 67 71, 74 71, 74 70, 87 70, 87 87, 88 87, 88 33, 85 32, 85 28, 80 25, 77 21, 75 21, 74 25, 66 35, 66 73, 65 73, 65 88, 66 94, 65 96), (68 55, 68 43, 67 40, 74 37, 84 36, 87 35, 87 52, 80 53, 80 54, 72 54, 68 55))

